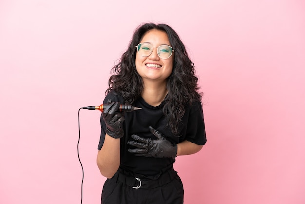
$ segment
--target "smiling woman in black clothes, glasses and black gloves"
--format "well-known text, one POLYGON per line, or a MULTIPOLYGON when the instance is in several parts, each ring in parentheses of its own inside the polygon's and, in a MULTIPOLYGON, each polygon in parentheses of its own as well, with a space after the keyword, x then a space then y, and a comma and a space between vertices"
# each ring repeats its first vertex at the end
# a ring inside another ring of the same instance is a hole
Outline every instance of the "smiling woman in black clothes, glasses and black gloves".
POLYGON ((108 178, 102 204, 182 204, 175 157, 206 143, 198 78, 182 41, 168 25, 144 24, 113 71, 97 155, 108 178), (142 109, 122 113, 120 104, 142 109))

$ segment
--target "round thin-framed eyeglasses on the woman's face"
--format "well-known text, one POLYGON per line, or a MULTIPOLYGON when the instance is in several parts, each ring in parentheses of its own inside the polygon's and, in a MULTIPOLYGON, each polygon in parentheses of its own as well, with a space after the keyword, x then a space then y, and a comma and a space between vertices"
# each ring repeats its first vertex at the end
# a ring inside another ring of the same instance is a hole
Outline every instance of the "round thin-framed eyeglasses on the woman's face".
MULTIPOLYGON (((135 47, 142 57, 148 57, 150 54, 152 54, 152 50, 154 48, 150 43, 140 43, 135 47)), ((168 59, 172 56, 172 52, 174 52, 172 47, 168 45, 160 45, 156 48, 158 56, 162 59, 168 59)))

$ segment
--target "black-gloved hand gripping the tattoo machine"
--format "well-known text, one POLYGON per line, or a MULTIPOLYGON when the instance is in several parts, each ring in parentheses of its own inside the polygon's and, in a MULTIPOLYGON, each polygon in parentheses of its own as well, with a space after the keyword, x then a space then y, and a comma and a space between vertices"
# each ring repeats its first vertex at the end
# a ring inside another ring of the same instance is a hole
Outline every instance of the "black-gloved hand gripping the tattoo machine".
POLYGON ((122 138, 124 136, 123 122, 125 117, 124 113, 118 110, 121 103, 108 100, 108 104, 102 113, 106 123, 106 133, 113 138, 122 138))

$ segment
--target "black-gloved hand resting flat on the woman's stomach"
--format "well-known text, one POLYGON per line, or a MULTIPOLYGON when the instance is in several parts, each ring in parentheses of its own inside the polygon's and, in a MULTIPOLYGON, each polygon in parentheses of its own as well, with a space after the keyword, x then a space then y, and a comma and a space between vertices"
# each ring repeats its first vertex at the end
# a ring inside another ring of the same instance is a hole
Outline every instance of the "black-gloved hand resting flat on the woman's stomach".
POLYGON ((127 143, 137 148, 128 149, 128 152, 135 153, 136 156, 175 158, 177 156, 177 145, 166 140, 158 130, 153 129, 152 127, 149 127, 149 129, 157 139, 142 138, 138 135, 131 135, 135 141, 129 140, 127 143))

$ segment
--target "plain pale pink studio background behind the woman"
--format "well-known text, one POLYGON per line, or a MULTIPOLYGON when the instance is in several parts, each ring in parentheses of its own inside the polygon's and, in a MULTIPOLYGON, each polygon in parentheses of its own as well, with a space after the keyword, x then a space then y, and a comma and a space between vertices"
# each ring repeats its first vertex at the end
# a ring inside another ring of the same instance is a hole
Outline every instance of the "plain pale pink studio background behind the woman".
MULTIPOLYGON (((185 203, 304 204, 304 0, 1 0, 0 204, 80 203, 77 111, 148 21, 178 32, 205 94, 208 142, 175 164, 185 203)), ((105 181, 99 117, 80 112, 83 204, 105 181)))

